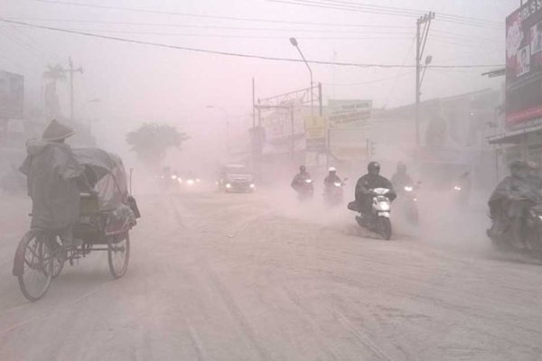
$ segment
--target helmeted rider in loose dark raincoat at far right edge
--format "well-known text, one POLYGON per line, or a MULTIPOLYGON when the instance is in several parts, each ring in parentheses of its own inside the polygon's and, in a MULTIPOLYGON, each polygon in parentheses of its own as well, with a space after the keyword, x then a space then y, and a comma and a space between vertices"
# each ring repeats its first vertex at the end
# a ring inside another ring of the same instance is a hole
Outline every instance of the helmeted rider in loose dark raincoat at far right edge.
POLYGON ((509 171, 510 175, 500 181, 488 203, 491 219, 493 219, 489 232, 494 236, 501 235, 511 223, 513 245, 517 248, 525 248, 524 216, 533 202, 540 199, 540 193, 533 183, 532 176, 529 176, 527 162, 511 162, 509 171))

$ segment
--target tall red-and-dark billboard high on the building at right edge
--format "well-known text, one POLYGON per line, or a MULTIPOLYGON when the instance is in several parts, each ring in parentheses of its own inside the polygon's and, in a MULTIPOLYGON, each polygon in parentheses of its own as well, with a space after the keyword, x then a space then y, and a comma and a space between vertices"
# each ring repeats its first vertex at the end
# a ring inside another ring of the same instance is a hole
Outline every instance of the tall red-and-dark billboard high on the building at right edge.
POLYGON ((506 125, 542 122, 542 0, 529 0, 506 19, 506 125))

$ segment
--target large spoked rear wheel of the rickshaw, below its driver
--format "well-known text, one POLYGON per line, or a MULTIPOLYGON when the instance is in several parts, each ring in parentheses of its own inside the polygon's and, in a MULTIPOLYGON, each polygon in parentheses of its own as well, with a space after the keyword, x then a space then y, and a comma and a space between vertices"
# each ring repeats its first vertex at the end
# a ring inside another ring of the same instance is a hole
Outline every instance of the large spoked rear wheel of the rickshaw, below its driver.
POLYGON ((28 232, 21 240, 24 247, 23 273, 17 276, 24 297, 40 300, 49 290, 53 273, 53 254, 47 235, 28 232))

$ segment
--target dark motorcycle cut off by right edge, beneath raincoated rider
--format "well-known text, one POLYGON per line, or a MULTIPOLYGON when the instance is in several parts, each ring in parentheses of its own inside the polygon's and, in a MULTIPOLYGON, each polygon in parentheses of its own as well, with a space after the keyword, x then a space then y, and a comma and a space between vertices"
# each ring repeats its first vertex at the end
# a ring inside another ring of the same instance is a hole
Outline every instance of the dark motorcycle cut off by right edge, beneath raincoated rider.
MULTIPOLYGON (((512 201, 526 201, 527 197, 513 197, 512 201)), ((523 232, 521 242, 524 246, 515 244, 512 240, 513 220, 509 217, 507 209, 501 209, 500 214, 491 218, 491 228, 487 235, 495 248, 501 251, 515 251, 526 255, 532 255, 542 259, 542 202, 531 200, 532 205, 523 216, 523 232)))

